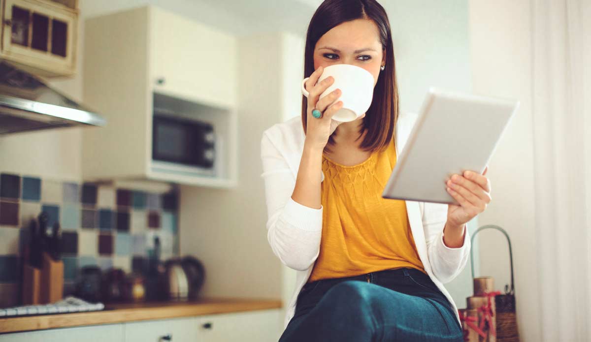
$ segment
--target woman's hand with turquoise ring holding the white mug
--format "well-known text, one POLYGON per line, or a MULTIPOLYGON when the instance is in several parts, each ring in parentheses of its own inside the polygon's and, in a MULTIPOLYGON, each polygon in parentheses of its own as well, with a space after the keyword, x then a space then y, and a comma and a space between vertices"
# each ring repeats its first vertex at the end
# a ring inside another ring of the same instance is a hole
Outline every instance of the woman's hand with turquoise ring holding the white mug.
POLYGON ((316 69, 310 75, 310 78, 305 83, 306 90, 309 93, 307 109, 308 117, 306 122, 306 143, 310 144, 315 149, 320 150, 324 149, 324 146, 326 146, 326 143, 329 141, 329 136, 335 132, 337 126, 342 123, 340 121, 333 120, 332 116, 335 115, 337 110, 343 106, 342 101, 338 101, 332 106, 329 106, 341 95, 340 89, 335 89, 333 92, 329 93, 329 95, 324 96, 322 99, 318 100, 324 90, 326 90, 331 84, 333 84, 333 82, 335 82, 335 79, 332 76, 329 76, 322 80, 322 82, 316 84, 320 75, 322 75, 323 70, 324 68, 322 66, 318 67, 318 69, 316 69), (312 110, 314 109, 318 109, 320 112, 322 112, 322 116, 320 118, 314 118, 314 116, 312 116, 312 110))

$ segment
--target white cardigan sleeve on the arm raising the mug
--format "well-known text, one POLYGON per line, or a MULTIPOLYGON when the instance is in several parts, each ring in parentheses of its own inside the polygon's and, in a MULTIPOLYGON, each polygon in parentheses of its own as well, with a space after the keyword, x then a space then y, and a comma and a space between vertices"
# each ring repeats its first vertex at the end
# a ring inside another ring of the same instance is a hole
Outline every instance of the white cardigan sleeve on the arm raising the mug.
POLYGON ((261 139, 261 159, 267 203, 267 240, 285 266, 305 271, 320 253, 323 208, 310 208, 291 198, 296 179, 267 131, 261 139))

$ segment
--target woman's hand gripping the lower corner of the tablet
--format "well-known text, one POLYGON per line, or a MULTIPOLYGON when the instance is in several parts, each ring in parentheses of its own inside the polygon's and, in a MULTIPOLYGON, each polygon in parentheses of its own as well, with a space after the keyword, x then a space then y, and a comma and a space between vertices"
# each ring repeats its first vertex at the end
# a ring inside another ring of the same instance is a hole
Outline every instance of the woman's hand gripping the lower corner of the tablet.
POLYGON ((486 209, 491 203, 491 181, 485 177, 488 166, 481 175, 465 171, 463 175, 454 174, 447 181, 447 193, 456 199, 459 206, 448 204, 447 224, 461 227, 486 209))

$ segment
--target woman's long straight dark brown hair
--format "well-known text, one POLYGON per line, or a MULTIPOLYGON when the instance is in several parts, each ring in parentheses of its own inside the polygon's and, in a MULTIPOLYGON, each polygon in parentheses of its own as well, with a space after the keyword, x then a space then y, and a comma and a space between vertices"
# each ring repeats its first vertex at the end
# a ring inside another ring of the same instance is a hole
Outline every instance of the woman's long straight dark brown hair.
MULTIPOLYGON (((367 131, 361 142, 361 149, 374 152, 386 148, 391 139, 395 139, 399 108, 392 32, 384 8, 375 0, 324 0, 314 12, 308 26, 304 51, 304 77, 309 77, 314 72, 314 47, 320 37, 333 27, 354 19, 370 19, 375 22, 379 30, 379 40, 386 53, 385 69, 380 71, 371 106, 362 119, 363 125, 359 131, 359 136, 367 131)), ((307 108, 308 99, 302 96, 301 121, 304 133, 308 118, 307 108)), ((335 140, 331 135, 324 151, 330 152, 329 145, 334 144, 335 140)))

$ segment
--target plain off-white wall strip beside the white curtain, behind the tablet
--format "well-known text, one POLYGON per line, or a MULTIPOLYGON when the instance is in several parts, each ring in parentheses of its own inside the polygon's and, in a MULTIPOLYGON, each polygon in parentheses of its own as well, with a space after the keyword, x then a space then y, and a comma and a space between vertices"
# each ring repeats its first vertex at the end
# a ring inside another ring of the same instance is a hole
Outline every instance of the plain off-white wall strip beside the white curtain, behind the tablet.
MULTIPOLYGON (((519 99, 521 105, 501 139, 487 173, 492 201, 479 223, 504 227, 514 245, 515 294, 522 341, 539 341, 535 266, 534 161, 531 113, 529 1, 470 1, 472 82, 475 92, 519 99)), ((499 233, 480 237, 481 275, 509 282, 506 243, 499 233)), ((560 271, 557 270, 558 273, 560 271)))

